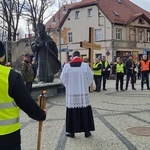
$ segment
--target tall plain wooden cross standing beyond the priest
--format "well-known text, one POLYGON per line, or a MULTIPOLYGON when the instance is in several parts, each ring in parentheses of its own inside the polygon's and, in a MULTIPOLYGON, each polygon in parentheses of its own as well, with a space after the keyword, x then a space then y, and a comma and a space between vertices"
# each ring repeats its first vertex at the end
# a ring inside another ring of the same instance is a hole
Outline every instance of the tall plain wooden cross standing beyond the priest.
MULTIPOLYGON (((80 42, 80 47, 89 49, 89 63, 93 67, 93 53, 94 50, 100 50, 101 45, 94 43, 94 28, 89 28, 89 42, 80 42)), ((93 84, 90 86, 90 91, 93 91, 93 84)))

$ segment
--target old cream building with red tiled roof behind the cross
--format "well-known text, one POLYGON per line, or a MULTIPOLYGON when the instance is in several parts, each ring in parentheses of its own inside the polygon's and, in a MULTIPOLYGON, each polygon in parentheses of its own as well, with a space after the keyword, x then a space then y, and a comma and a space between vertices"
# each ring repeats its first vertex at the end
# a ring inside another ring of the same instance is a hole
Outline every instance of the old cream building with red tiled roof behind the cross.
POLYGON ((82 0, 68 4, 59 9, 46 27, 62 50, 62 63, 75 50, 80 51, 82 58, 89 57, 88 49, 80 47, 81 41, 89 42, 89 27, 94 28, 94 42, 101 45, 101 49, 93 51, 93 60, 106 56, 112 62, 120 56, 125 61, 133 55, 137 62, 143 49, 150 58, 150 13, 129 0, 82 0), (64 8, 66 14, 62 13, 64 8))

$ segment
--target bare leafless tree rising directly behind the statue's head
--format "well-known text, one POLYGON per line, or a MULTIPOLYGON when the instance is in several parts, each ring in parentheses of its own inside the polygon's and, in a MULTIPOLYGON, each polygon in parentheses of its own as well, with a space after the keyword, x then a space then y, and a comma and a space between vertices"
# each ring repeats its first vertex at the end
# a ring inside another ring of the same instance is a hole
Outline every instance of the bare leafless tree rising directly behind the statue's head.
POLYGON ((46 10, 49 9, 54 3, 55 0, 26 0, 23 16, 27 18, 27 21, 31 21, 35 36, 37 36, 37 23, 44 21, 44 14, 46 10))

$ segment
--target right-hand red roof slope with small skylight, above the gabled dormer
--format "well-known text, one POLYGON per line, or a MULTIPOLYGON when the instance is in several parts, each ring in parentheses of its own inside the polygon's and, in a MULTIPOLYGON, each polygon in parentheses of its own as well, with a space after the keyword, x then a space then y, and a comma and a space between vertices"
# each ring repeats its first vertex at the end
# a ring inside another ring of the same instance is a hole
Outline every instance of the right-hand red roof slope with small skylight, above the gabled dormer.
POLYGON ((127 24, 134 15, 143 13, 150 19, 150 13, 129 0, 99 0, 101 11, 112 23, 127 24), (116 15, 114 12, 117 12, 116 15))

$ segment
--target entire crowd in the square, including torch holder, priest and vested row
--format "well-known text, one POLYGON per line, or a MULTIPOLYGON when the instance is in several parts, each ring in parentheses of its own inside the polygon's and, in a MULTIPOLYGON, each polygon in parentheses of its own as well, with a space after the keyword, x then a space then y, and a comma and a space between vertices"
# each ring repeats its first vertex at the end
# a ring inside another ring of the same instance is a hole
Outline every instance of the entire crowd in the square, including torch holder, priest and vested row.
MULTIPOLYGON (((0 62, 5 59, 4 45, 0 42, 0 62)), ((10 64, 0 65, 0 149, 21 150, 19 109, 22 109, 29 117, 35 120, 45 120, 46 110, 38 107, 30 96, 32 83, 36 76, 35 61, 29 54, 25 54, 21 63, 21 75, 15 72, 10 64), (6 99, 7 97, 7 99, 6 99), (9 105, 7 107, 7 104, 9 105), (15 104, 15 105, 14 105, 15 104), (9 110, 13 110, 9 114, 9 110), (13 122, 10 121, 13 119, 13 122), (11 141, 8 145, 6 141, 11 141)), ((75 51, 72 60, 62 65, 60 79, 66 88, 66 136, 75 137, 75 133, 84 132, 85 137, 91 136, 91 131, 95 130, 92 107, 89 99, 89 86, 95 81, 95 91, 107 91, 107 80, 112 74, 116 78, 116 91, 128 90, 131 83, 132 90, 136 90, 136 78, 141 79, 141 90, 146 82, 149 87, 150 61, 147 55, 143 55, 138 63, 133 61, 130 55, 126 62, 117 57, 115 63, 110 63, 103 56, 96 58, 93 66, 89 66, 88 59, 84 61, 80 58, 79 51, 75 51), (90 68, 91 67, 91 68, 90 68), (124 88, 124 77, 126 84, 124 88), (120 88, 119 88, 120 83, 120 88)))

